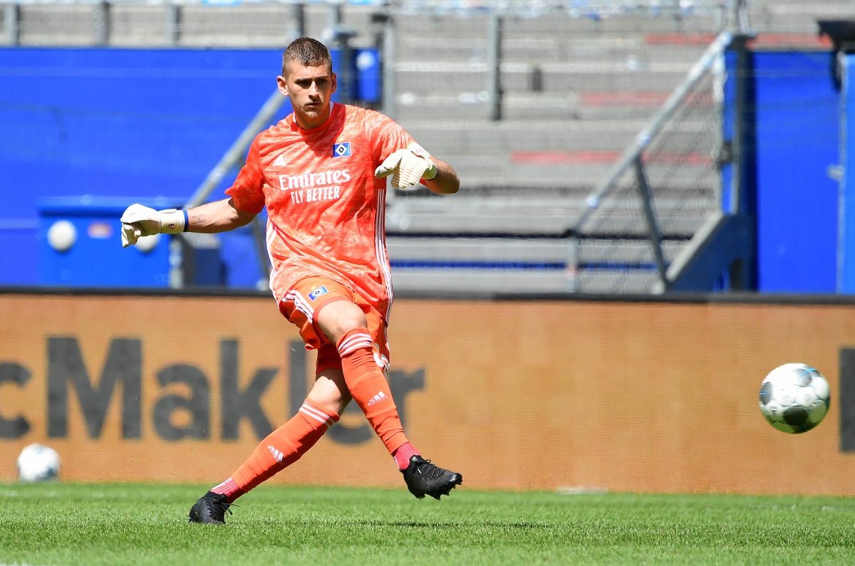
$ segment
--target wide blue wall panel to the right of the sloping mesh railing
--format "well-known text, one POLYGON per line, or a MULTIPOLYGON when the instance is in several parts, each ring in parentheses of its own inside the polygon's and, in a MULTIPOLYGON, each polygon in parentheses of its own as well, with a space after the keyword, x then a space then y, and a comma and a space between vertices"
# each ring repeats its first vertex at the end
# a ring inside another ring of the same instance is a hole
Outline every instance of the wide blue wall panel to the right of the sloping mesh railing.
POLYGON ((840 93, 828 52, 756 52, 758 291, 836 292, 840 93))

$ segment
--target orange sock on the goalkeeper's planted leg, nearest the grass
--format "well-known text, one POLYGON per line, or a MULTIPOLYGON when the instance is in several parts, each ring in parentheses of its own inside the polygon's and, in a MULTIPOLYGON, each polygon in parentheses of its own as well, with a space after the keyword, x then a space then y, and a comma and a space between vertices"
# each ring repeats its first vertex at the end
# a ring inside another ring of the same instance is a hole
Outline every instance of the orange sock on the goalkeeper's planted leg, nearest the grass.
POLYGON ((281 427, 268 434, 256 447, 251 456, 240 464, 229 480, 212 489, 221 489, 230 501, 238 498, 253 487, 297 462, 306 451, 315 445, 334 422, 339 420, 336 414, 328 414, 308 401, 298 410, 297 415, 281 427), (229 485, 229 484, 233 485, 229 485), (233 496, 233 497, 232 497, 233 496))

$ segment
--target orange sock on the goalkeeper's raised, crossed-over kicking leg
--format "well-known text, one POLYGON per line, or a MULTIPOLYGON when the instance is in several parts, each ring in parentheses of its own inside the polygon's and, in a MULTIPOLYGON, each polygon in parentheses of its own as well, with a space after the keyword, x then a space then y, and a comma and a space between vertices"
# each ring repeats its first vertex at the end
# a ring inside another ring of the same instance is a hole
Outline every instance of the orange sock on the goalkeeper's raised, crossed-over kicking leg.
POLYGON ((341 357, 345 383, 353 400, 363 410, 374 432, 393 454, 408 442, 392 400, 386 375, 374 362, 374 341, 368 328, 354 328, 339 339, 336 348, 341 357))

